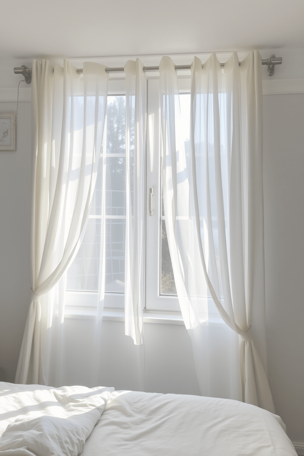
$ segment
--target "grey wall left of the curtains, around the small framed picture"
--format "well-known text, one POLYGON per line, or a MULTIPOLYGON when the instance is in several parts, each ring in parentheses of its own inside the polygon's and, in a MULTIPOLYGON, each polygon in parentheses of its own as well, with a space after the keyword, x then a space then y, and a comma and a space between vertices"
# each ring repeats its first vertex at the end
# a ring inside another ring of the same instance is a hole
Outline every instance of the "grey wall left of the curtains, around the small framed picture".
MULTIPOLYGON (((0 103, 14 112, 16 103, 0 103)), ((0 151, 0 367, 13 381, 30 299, 31 103, 19 103, 17 150, 0 151)), ((1 371, 0 371, 1 379, 1 371)))

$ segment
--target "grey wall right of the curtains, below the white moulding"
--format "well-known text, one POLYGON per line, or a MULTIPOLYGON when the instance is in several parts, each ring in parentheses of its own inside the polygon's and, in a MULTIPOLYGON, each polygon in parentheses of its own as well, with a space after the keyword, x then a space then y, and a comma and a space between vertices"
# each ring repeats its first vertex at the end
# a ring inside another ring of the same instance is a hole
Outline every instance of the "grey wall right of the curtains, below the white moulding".
POLYGON ((269 384, 293 441, 304 442, 304 94, 263 97, 269 384))

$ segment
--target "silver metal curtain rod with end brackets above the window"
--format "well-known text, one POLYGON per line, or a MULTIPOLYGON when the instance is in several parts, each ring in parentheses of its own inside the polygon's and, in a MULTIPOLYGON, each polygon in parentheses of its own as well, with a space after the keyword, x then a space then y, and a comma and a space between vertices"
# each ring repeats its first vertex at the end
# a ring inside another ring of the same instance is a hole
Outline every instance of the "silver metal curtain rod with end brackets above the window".
MULTIPOLYGON (((273 54, 270 58, 265 58, 262 60, 262 65, 268 65, 268 75, 272 76, 274 72, 274 65, 281 65, 282 63, 282 57, 276 57, 275 54, 273 54)), ((241 65, 241 62, 239 62, 239 65, 241 65)), ((225 63, 221 63, 221 67, 224 67, 225 63)), ((204 67, 202 65, 202 67, 204 67)), ((144 71, 158 71, 160 68, 159 67, 143 67, 144 71)), ((175 70, 190 70, 191 65, 175 65, 175 70)), ((77 73, 81 74, 82 73, 82 68, 77 68, 77 73)), ((116 67, 116 68, 106 68, 105 69, 106 73, 124 73, 124 67, 116 67)), ((25 65, 21 65, 21 67, 15 67, 14 68, 14 73, 15 74, 22 74, 26 80, 26 83, 30 84, 31 83, 31 73, 32 69, 26 67, 25 65)))

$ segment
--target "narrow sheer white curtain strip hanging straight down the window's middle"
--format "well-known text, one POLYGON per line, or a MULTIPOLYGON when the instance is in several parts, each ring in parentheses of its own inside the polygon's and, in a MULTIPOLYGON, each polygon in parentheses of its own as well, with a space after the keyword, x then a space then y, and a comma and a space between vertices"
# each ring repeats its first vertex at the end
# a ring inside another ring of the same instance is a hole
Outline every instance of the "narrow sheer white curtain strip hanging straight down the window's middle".
POLYGON ((143 344, 144 195, 146 141, 146 76, 143 63, 129 60, 126 77, 126 247, 125 334, 143 344))

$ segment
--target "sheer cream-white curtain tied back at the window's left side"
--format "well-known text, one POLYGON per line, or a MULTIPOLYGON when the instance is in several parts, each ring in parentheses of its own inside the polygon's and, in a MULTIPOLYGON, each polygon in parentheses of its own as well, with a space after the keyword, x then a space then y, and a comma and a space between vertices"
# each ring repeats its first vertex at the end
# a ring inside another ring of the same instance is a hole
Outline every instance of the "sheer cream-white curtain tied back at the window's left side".
MULTIPOLYGON (((48 384, 55 287, 81 244, 103 139, 108 74, 85 62, 32 66, 31 303, 16 383, 48 384), (31 349, 33 345, 33 352, 31 349)), ((57 299, 59 303, 64 300, 57 299)), ((64 309, 59 305, 59 321, 64 309)))

